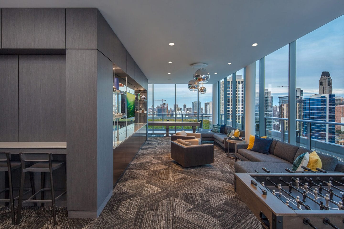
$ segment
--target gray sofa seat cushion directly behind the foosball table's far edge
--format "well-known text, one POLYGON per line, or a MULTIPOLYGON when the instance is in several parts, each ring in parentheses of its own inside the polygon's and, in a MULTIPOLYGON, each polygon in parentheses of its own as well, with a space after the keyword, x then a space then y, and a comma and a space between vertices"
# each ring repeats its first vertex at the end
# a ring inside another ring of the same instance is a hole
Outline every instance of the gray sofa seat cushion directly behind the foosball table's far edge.
MULTIPOLYGON (((264 155, 264 154, 263 154, 264 155)), ((269 154, 271 155, 271 154, 269 154)), ((267 168, 272 173, 286 173, 286 168, 291 169, 291 163, 278 162, 255 162, 255 161, 237 161, 234 162, 234 169, 236 173, 256 173, 255 170, 265 173, 263 167, 267 168)))

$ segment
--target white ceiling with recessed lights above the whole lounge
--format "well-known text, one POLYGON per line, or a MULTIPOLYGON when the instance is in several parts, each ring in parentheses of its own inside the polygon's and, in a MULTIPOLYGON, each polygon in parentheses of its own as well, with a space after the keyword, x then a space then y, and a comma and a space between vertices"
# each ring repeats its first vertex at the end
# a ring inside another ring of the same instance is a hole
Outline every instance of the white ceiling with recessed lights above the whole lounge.
POLYGON ((0 0, 45 7, 98 8, 149 83, 187 83, 196 62, 215 83, 344 14, 343 0, 0 0))

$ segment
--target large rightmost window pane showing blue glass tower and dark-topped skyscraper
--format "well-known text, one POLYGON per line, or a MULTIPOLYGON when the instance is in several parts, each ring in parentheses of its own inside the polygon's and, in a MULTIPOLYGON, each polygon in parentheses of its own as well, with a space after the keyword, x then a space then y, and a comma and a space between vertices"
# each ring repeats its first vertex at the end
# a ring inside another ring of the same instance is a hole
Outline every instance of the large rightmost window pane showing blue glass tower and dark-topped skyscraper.
POLYGON ((344 15, 297 39, 295 53, 295 118, 305 120, 296 122, 296 144, 307 147, 310 131, 312 149, 337 155, 344 126, 308 123, 344 117, 344 15))

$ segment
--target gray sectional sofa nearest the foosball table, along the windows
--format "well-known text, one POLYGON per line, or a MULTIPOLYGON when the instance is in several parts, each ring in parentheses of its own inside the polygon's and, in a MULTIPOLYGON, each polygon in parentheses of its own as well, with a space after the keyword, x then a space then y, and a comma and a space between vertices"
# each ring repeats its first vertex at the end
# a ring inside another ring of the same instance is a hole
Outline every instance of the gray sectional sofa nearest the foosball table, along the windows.
MULTIPOLYGON (((235 145, 234 169, 236 173, 264 173, 263 167, 272 173, 286 173, 286 168, 291 169, 294 160, 304 152, 312 152, 302 147, 294 146, 286 142, 273 140, 269 154, 258 153, 247 149, 248 144, 235 145), (237 161, 240 160, 240 161, 237 161)), ((344 162, 337 158, 318 153, 322 169, 326 171, 344 172, 344 162)))

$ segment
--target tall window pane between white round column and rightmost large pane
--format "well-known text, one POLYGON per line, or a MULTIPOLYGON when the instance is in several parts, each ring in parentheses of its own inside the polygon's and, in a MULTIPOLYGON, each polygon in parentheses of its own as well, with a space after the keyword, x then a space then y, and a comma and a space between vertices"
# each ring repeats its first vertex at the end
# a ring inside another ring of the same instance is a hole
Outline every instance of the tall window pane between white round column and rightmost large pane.
POLYGON ((264 112, 266 134, 281 140, 284 128, 284 140, 288 141, 288 87, 289 87, 289 45, 286 45, 265 57, 264 112), (272 118, 275 117, 275 118, 272 118), (284 123, 284 125, 283 125, 284 123))

